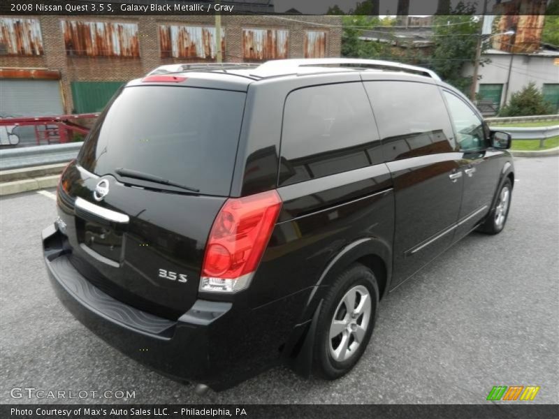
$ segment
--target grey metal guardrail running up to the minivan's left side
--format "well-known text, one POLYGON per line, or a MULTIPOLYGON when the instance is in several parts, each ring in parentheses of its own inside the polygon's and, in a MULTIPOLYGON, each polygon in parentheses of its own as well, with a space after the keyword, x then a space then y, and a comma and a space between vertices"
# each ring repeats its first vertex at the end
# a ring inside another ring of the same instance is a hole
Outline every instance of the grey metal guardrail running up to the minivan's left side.
POLYGON ((45 164, 64 163, 78 156, 83 142, 38 145, 0 150, 0 170, 29 168, 45 164))

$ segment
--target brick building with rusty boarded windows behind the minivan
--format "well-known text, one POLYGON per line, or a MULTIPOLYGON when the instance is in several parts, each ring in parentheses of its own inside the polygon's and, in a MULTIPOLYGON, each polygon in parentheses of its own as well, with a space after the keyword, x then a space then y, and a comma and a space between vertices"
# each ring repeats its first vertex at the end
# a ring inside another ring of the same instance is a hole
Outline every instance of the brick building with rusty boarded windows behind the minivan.
MULTIPOLYGON (((97 112, 120 84, 157 66, 215 61, 214 23, 206 15, 0 16, 0 117, 97 112)), ((224 15, 223 61, 339 57, 340 25, 335 16, 224 15)))

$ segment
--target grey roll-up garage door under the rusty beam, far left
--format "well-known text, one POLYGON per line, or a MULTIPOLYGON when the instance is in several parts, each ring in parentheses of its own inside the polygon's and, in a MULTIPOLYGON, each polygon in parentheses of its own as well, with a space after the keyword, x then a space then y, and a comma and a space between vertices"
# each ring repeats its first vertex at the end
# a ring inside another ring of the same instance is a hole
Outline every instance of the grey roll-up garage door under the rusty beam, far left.
POLYGON ((0 117, 62 115, 58 80, 0 80, 0 117))

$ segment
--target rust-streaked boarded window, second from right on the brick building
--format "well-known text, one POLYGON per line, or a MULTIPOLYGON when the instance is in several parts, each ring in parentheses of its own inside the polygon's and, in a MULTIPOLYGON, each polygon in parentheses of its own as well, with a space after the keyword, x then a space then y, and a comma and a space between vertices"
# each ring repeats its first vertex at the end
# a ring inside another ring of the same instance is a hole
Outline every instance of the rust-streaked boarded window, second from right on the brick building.
POLYGON ((289 31, 282 29, 242 29, 242 58, 265 61, 287 58, 289 31))

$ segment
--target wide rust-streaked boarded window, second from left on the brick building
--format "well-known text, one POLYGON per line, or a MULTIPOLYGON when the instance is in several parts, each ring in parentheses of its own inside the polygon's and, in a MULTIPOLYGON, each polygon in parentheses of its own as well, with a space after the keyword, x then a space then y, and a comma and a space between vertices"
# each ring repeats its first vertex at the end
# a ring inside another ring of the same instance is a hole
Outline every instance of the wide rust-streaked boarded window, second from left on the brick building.
POLYGON ((66 55, 140 57, 138 25, 62 20, 66 55))

